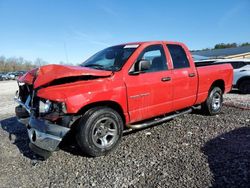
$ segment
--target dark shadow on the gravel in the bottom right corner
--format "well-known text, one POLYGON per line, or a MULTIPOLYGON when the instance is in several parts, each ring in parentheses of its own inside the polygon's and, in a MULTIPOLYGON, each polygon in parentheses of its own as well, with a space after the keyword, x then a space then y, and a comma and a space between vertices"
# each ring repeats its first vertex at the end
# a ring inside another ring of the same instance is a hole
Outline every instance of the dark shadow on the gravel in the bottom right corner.
POLYGON ((250 186, 250 127, 208 141, 202 148, 213 173, 213 187, 250 186))

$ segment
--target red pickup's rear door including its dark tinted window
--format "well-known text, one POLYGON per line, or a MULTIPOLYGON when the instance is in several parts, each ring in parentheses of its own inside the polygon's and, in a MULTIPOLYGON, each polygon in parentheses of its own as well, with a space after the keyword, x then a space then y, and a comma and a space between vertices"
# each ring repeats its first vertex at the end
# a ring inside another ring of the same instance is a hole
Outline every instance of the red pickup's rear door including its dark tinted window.
POLYGON ((198 75, 194 64, 190 64, 183 47, 178 44, 167 44, 173 70, 173 110, 194 105, 197 95, 198 75))

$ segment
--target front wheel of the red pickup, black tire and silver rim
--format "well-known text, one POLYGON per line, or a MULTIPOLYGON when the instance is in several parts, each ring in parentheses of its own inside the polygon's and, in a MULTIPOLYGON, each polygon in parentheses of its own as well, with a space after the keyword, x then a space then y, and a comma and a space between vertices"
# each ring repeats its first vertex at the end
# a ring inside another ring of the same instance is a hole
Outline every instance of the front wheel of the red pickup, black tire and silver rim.
POLYGON ((108 107, 88 110, 77 127, 76 141, 84 154, 92 157, 114 150, 122 137, 121 116, 108 107))

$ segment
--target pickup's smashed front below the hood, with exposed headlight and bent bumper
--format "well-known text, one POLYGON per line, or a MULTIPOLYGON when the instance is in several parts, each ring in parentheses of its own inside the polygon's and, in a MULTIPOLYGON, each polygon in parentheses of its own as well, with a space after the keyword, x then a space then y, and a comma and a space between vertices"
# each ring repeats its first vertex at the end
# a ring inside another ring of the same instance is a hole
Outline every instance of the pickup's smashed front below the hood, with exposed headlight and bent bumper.
POLYGON ((44 156, 44 153, 57 149, 70 130, 72 118, 65 115, 67 112, 64 103, 39 98, 33 84, 22 81, 18 80, 19 91, 15 96, 15 101, 19 104, 15 108, 16 117, 27 127, 30 148, 44 156))

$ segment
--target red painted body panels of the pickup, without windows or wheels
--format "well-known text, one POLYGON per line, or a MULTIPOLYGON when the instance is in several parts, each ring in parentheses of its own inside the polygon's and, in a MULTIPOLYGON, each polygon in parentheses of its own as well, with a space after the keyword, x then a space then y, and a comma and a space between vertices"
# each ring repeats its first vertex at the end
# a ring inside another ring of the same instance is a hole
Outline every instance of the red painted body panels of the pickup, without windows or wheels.
MULTIPOLYGON (((88 104, 112 101, 121 107, 126 123, 129 124, 200 104, 206 100, 211 85, 217 80, 225 83, 225 92, 231 90, 233 79, 231 65, 221 64, 196 68, 190 52, 182 43, 154 41, 130 44, 140 45, 123 68, 114 74, 110 71, 78 66, 47 65, 41 67, 34 82, 34 88, 45 86, 53 80, 64 77, 93 75, 99 78, 47 86, 39 89, 37 95, 52 101, 65 102, 67 111, 71 114, 79 112, 88 104), (128 72, 138 55, 145 47, 154 44, 163 45, 168 70, 129 75, 128 72), (190 67, 173 69, 166 44, 181 45, 187 54, 190 67), (189 77, 190 73, 194 73, 195 77, 189 77), (171 77, 171 81, 162 82, 163 77, 171 77)), ((25 79, 19 81, 26 82, 25 79)))

